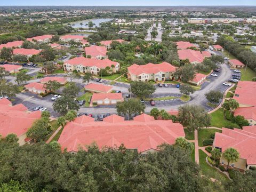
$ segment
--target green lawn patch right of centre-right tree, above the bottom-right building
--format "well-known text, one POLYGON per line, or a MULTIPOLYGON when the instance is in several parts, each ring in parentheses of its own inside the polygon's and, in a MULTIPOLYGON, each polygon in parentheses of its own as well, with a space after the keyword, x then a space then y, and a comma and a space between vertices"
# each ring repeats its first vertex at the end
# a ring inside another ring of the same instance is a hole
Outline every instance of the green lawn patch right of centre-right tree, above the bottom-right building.
POLYGON ((212 117, 211 118, 211 126, 222 128, 223 126, 226 126, 228 123, 230 123, 230 121, 228 121, 224 117, 224 112, 223 112, 222 108, 218 109, 217 111, 214 111, 210 115, 212 117))

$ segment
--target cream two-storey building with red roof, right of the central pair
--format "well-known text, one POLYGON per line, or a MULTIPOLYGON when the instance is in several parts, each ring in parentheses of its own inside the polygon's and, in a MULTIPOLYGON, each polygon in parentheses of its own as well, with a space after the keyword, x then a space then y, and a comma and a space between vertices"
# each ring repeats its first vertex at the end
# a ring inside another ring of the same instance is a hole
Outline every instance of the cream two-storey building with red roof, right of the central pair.
POLYGON ((133 64, 127 68, 127 76, 131 81, 165 81, 173 78, 173 72, 176 67, 170 63, 162 62, 160 64, 148 63, 147 65, 133 64))

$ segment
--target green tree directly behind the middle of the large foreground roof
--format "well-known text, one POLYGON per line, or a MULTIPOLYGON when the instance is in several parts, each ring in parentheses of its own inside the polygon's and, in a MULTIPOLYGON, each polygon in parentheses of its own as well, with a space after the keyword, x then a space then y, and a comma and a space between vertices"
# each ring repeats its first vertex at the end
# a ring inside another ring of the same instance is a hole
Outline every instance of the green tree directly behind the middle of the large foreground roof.
POLYGON ((130 119, 133 114, 143 113, 145 108, 145 105, 143 105, 138 99, 129 99, 116 104, 116 111, 118 115, 127 115, 128 119, 130 119))

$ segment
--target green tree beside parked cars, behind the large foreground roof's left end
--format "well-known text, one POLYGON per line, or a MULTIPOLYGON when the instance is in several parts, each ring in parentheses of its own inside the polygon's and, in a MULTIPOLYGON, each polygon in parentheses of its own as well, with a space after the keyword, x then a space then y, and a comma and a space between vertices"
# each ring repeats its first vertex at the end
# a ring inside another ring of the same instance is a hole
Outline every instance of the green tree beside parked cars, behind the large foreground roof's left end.
POLYGON ((53 110, 57 111, 61 115, 66 115, 68 113, 68 110, 79 110, 79 105, 76 101, 74 101, 74 98, 65 96, 57 99, 53 103, 53 110))

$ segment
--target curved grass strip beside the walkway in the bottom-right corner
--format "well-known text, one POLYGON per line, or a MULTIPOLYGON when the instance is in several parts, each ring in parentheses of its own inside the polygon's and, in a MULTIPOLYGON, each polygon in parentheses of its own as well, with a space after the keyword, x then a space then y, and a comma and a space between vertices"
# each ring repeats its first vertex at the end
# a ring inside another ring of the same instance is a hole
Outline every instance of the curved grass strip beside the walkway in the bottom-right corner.
POLYGON ((204 153, 204 151, 199 149, 199 166, 202 170, 202 174, 210 178, 217 179, 222 183, 228 182, 228 178, 225 174, 220 173, 217 169, 211 167, 209 164, 206 163, 206 156, 207 155, 204 153))

